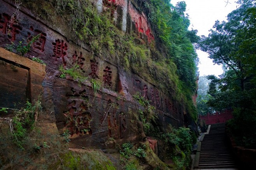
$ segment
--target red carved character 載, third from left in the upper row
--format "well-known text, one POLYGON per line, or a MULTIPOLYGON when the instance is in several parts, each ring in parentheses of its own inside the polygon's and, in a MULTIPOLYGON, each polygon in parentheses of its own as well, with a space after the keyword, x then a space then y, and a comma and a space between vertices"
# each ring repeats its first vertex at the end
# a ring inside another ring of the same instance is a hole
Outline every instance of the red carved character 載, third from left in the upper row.
POLYGON ((66 66, 67 62, 65 61, 64 56, 67 55, 68 45, 63 40, 55 40, 53 42, 53 57, 55 57, 55 61, 57 59, 62 59, 64 66, 66 66))

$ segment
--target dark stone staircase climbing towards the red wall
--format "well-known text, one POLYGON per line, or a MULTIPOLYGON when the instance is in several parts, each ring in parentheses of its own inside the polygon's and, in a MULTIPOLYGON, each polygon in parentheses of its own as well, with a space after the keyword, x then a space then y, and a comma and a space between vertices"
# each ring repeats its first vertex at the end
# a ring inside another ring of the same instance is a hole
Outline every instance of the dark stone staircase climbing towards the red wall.
POLYGON ((201 141, 198 169, 236 168, 225 138, 225 123, 211 125, 201 141))

